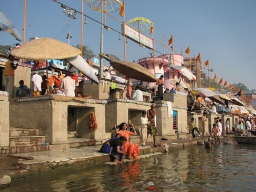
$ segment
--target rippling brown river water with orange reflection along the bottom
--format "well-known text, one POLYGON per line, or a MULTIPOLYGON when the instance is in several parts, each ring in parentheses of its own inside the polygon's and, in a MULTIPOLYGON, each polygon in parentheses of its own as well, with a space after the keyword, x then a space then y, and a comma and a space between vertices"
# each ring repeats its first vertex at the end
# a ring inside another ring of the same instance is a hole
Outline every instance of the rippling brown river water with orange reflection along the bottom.
POLYGON ((255 191, 256 145, 229 140, 118 165, 95 165, 11 181, 1 191, 255 191))

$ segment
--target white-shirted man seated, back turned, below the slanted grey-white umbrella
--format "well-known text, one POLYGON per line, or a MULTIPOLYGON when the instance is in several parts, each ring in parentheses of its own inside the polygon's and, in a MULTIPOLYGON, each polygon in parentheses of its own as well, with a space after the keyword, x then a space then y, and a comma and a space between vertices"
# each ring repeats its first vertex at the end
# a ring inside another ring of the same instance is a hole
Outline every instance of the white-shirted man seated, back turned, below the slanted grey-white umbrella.
POLYGON ((71 78, 71 72, 66 72, 65 78, 62 79, 60 88, 66 96, 75 97, 75 80, 71 78))

